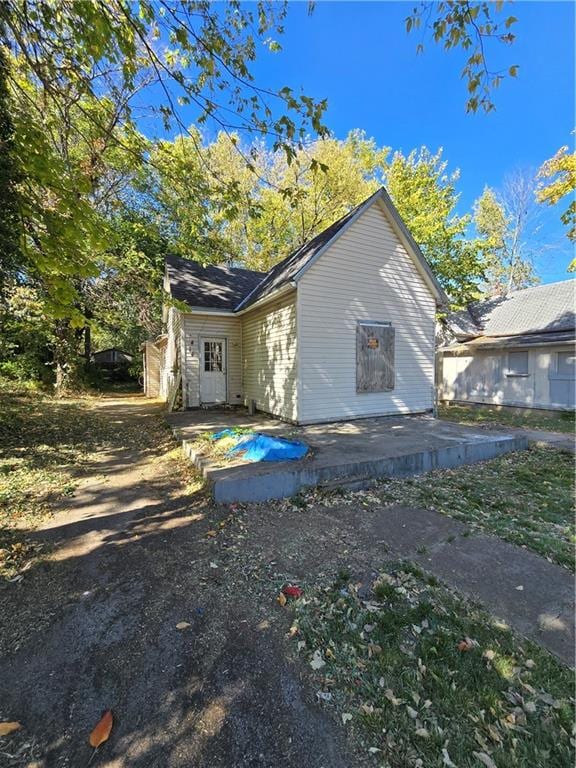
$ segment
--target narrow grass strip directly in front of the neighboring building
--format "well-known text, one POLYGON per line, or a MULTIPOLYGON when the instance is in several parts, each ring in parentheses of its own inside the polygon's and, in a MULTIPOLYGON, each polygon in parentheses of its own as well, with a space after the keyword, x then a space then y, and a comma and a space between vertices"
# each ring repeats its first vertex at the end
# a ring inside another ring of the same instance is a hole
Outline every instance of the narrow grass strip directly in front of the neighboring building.
POLYGON ((459 424, 477 424, 486 426, 524 427, 525 429, 544 429, 551 432, 574 432, 575 414, 573 411, 535 411, 530 408, 515 410, 493 408, 489 405, 441 405, 438 416, 459 424))

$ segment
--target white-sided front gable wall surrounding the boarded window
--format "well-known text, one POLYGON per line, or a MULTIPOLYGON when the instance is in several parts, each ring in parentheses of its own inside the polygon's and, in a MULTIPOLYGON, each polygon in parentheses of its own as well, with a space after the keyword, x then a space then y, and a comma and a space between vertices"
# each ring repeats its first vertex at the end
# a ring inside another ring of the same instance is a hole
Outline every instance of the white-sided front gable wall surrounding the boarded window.
POLYGON ((372 206, 298 284, 299 421, 332 421, 431 410, 435 297, 394 232, 372 206), (356 328, 395 329, 395 386, 358 392, 356 328))

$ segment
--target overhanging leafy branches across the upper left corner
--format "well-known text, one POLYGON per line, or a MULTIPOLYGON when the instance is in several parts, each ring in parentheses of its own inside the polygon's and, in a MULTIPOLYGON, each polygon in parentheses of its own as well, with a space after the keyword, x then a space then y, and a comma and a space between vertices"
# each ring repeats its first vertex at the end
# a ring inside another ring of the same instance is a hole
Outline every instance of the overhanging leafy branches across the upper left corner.
POLYGON ((65 88, 51 88, 54 82, 73 82, 81 97, 91 100, 102 82, 130 94, 144 75, 161 95, 157 112, 166 130, 184 129, 178 107, 193 104, 200 125, 269 135, 274 148, 290 157, 294 142, 310 129, 326 133, 326 103, 288 86, 271 91, 254 82, 258 48, 266 42, 268 50, 278 50, 270 36, 282 34, 286 13, 285 2, 41 0, 29 8, 22 0, 8 0, 0 20, 14 50, 56 105, 65 88))

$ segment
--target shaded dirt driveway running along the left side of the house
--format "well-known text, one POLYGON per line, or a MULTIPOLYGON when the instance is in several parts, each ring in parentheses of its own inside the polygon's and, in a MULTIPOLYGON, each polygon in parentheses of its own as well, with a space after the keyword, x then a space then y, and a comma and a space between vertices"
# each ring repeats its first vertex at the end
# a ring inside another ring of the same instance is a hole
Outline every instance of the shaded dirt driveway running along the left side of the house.
POLYGON ((92 765, 362 765, 318 706, 276 596, 339 568, 362 578, 384 559, 369 504, 215 507, 165 446, 136 439, 158 428, 156 407, 99 409, 134 439, 102 453, 33 534, 51 558, 0 592, 0 720, 23 724, 0 764, 84 766, 88 734, 112 708, 92 765))

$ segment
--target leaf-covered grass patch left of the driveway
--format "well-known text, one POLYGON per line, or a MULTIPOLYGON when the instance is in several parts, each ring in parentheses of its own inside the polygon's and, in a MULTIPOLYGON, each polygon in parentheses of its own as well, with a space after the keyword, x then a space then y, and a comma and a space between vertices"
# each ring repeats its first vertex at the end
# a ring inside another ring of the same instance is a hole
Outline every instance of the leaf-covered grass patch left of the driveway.
POLYGON ((41 553, 26 531, 74 494, 106 449, 171 445, 160 419, 123 424, 100 415, 95 399, 59 400, 38 391, 0 389, 0 579, 12 579, 41 553))

